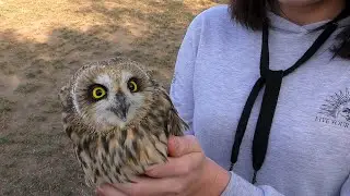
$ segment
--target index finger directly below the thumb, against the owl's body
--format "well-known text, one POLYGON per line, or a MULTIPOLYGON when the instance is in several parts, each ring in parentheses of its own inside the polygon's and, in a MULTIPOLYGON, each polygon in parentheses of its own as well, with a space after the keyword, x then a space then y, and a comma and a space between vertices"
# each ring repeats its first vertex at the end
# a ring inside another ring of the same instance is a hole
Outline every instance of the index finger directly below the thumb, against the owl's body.
POLYGON ((192 152, 180 158, 168 158, 164 164, 156 164, 148 168, 145 174, 152 177, 171 177, 186 175, 205 161, 202 152, 192 152))

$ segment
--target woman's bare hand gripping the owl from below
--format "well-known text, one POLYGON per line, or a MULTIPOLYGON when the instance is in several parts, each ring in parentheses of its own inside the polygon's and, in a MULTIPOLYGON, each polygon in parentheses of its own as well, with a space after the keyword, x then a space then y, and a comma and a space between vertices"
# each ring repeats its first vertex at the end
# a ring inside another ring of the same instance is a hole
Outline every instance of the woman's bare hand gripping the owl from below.
POLYGON ((168 154, 166 163, 152 166, 136 183, 105 184, 97 195, 220 195, 229 183, 229 172, 207 158, 191 135, 171 137, 168 154))

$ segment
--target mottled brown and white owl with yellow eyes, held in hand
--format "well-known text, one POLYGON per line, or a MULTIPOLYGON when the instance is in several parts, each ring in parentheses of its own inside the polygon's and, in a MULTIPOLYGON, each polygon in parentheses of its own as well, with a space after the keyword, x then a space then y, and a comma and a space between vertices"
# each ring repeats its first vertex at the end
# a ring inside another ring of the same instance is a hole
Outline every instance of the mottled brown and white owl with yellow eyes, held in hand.
POLYGON ((165 89, 125 59, 81 68, 61 88, 60 99, 63 128, 88 185, 130 182, 147 167, 166 161, 168 136, 187 128, 165 89))

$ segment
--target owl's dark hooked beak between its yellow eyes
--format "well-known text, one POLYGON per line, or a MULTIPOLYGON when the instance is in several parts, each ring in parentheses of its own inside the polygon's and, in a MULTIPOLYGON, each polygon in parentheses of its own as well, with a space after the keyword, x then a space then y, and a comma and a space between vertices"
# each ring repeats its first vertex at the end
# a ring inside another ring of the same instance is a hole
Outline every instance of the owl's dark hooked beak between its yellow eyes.
POLYGON ((117 93, 115 99, 115 106, 110 108, 110 111, 114 112, 121 121, 126 122, 130 103, 127 102, 127 98, 122 93, 117 93))

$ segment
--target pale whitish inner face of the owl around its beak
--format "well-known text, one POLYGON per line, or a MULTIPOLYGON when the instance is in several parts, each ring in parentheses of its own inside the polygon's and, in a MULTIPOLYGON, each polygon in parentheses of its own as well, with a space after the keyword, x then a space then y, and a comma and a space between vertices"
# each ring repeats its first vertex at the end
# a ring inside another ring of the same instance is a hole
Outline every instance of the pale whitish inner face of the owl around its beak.
POLYGON ((122 127, 133 119, 138 109, 144 100, 144 87, 139 75, 130 72, 113 71, 100 74, 92 79, 94 85, 105 89, 105 94, 96 89, 95 97, 103 98, 91 102, 94 124, 98 127, 110 128, 113 126, 122 127))

